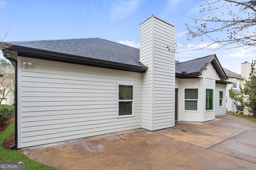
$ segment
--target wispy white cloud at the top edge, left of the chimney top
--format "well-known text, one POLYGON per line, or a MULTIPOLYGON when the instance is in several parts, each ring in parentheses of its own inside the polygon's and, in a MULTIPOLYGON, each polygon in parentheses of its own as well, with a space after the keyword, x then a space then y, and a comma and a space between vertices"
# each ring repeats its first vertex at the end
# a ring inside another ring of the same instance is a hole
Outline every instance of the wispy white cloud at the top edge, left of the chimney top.
POLYGON ((111 20, 124 19, 130 16, 140 4, 139 0, 114 1, 110 9, 111 20))

